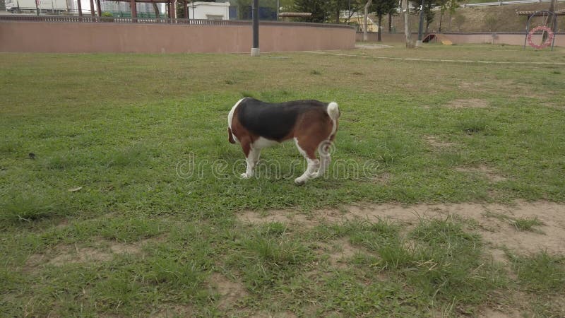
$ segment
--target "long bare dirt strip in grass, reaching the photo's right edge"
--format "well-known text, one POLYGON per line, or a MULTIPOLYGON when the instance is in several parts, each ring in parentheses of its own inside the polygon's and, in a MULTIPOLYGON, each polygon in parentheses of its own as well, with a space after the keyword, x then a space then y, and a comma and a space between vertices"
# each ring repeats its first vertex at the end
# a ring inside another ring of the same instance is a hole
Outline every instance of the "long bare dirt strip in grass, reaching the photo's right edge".
MULTIPOLYGON (((563 244, 565 242, 565 204, 547 201, 518 201, 511 206, 470 203, 417 204, 412 206, 367 204, 364 206, 349 206, 346 210, 346 213, 336 210, 319 210, 313 211, 309 216, 297 211, 270 211, 264 217, 254 212, 246 212, 243 214, 245 217, 240 215, 238 218, 246 222, 253 216, 251 218, 253 224, 279 220, 297 227, 312 228, 321 223, 341 223, 345 220, 358 218, 373 222, 379 219, 389 219, 405 224, 415 224, 422 218, 456 216, 474 220, 472 222, 475 224, 474 230, 480 232, 484 240, 494 249, 507 247, 518 254, 530 254, 545 249, 550 254, 565 254, 565 244, 563 244), (511 218, 538 218, 543 225, 536 226, 537 231, 535 232, 521 231, 505 220, 489 216, 492 213, 511 218), (307 222, 302 222, 302 220, 307 220, 307 222)), ((499 257, 504 256, 499 254, 499 257)))

